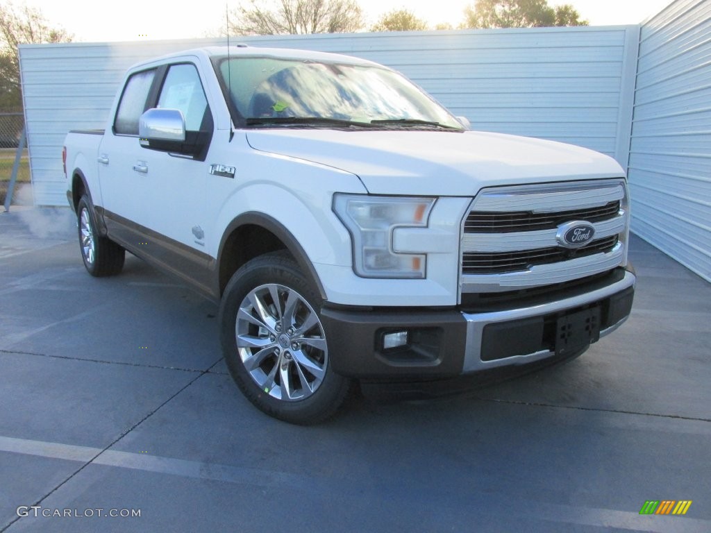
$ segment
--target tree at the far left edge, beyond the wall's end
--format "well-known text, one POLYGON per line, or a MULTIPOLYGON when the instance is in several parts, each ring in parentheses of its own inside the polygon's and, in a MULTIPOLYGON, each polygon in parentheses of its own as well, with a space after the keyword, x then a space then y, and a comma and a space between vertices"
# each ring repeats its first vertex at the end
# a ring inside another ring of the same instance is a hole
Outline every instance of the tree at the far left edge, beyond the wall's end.
POLYGON ((0 5, 0 109, 22 109, 20 56, 17 46, 25 43, 68 43, 72 36, 52 28, 41 11, 27 5, 0 5))

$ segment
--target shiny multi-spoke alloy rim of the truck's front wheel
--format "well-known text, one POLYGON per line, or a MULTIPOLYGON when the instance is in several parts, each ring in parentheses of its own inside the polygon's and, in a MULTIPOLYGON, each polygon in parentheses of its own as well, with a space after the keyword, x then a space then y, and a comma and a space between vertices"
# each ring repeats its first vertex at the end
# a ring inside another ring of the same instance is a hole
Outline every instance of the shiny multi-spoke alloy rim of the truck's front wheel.
POLYGON ((242 364, 269 396, 293 402, 321 386, 328 365, 324 326, 294 289, 266 284, 250 291, 235 330, 242 364))

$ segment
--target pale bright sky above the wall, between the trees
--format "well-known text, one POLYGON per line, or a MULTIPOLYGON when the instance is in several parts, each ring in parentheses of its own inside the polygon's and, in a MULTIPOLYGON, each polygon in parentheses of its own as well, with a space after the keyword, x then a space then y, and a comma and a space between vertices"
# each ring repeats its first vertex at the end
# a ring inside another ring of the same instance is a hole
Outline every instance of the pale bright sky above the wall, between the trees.
MULTIPOLYGON (((247 1, 247 0, 242 0, 247 1)), ((267 0, 268 1, 268 0, 267 0)), ((672 0, 548 0, 572 4, 591 26, 637 24, 657 14, 672 0)), ((15 0, 14 4, 21 4, 15 0)), ((181 7, 176 0, 26 0, 42 11, 50 26, 73 33, 75 42, 140 41, 200 38, 217 35, 225 23, 225 0, 199 0, 181 7)), ((430 26, 464 20, 464 7, 474 0, 358 0, 371 26, 392 9, 409 9, 430 26)), ((228 0, 230 9, 239 4, 228 0)), ((183 4, 185 5, 185 4, 183 4)))

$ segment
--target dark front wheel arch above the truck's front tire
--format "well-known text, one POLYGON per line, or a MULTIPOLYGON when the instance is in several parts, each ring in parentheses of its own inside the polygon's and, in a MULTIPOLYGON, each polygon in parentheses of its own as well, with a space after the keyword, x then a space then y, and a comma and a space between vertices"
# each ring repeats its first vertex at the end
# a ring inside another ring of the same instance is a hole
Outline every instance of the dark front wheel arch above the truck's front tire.
POLYGON ((326 291, 304 247, 281 222, 262 212, 242 213, 232 219, 225 229, 217 257, 218 296, 222 296, 232 274, 240 266, 250 259, 279 250, 289 252, 304 276, 311 280, 319 296, 325 300, 326 291), (249 242, 250 245, 242 246, 244 242, 249 242))

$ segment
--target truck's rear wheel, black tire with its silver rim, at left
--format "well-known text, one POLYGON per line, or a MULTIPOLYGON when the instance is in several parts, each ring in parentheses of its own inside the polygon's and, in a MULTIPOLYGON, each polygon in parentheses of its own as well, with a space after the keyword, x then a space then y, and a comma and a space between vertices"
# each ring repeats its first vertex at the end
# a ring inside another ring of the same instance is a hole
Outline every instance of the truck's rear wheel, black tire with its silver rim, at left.
POLYGON ((92 276, 114 276, 124 267, 126 251, 97 231, 96 214, 86 195, 77 205, 79 250, 87 272, 92 276))

